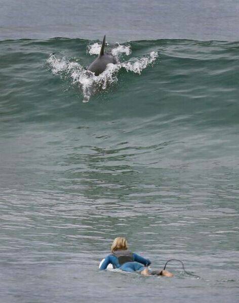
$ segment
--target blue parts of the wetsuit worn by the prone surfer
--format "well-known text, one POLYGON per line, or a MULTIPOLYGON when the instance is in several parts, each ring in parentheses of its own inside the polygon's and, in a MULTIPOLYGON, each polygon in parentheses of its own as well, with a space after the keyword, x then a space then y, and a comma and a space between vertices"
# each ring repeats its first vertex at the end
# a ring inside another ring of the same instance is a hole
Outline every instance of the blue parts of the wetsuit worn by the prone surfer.
MULTIPOLYGON (((127 272, 135 272, 135 271, 142 271, 145 269, 144 266, 148 266, 151 264, 151 262, 148 259, 145 259, 134 252, 129 252, 132 261, 126 262, 124 264, 119 263, 119 258, 117 258, 114 254, 108 255, 104 262, 100 266, 100 270, 104 270, 107 268, 109 264, 113 265, 113 268, 119 268, 121 270, 127 271, 127 272), (144 265, 144 266, 143 266, 144 265)), ((120 254, 119 254, 120 255, 120 254)))

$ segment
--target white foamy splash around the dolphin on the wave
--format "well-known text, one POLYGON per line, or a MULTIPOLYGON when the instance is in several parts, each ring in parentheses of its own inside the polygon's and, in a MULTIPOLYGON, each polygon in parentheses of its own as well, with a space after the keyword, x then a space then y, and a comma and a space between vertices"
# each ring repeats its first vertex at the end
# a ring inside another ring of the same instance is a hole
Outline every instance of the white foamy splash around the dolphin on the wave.
MULTIPOLYGON (((101 44, 93 43, 87 47, 89 55, 99 55, 101 44)), ((118 81, 117 72, 124 68, 127 72, 141 74, 142 70, 148 66, 152 66, 158 57, 157 52, 151 52, 141 58, 131 58, 128 61, 121 62, 123 55, 129 56, 131 52, 130 45, 121 45, 116 43, 111 48, 110 53, 116 58, 117 64, 108 64, 106 70, 99 76, 95 76, 91 71, 86 70, 81 64, 76 62, 77 59, 58 57, 51 54, 47 60, 47 65, 53 74, 60 75, 64 79, 69 79, 70 84, 78 85, 81 88, 84 99, 88 102, 91 95, 97 91, 105 90, 110 84, 118 81)))

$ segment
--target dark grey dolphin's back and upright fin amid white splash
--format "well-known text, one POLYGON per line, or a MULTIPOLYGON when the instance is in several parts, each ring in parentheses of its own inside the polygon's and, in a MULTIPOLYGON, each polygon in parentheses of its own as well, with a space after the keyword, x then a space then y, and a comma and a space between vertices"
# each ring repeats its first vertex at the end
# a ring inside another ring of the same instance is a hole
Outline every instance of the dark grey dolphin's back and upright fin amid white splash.
POLYGON ((89 71, 95 73, 96 76, 99 76, 99 74, 101 74, 106 69, 108 63, 117 63, 116 59, 112 55, 107 53, 104 54, 104 46, 105 35, 100 49, 99 57, 96 58, 87 68, 89 71))

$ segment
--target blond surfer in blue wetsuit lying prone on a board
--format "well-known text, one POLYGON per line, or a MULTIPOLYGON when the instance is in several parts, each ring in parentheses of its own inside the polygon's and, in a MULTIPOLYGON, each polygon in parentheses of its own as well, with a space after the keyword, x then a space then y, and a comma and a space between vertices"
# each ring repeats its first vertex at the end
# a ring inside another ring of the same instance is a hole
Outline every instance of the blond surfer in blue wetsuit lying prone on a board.
POLYGON ((99 269, 104 270, 109 264, 112 264, 113 268, 118 268, 126 272, 139 272, 143 276, 174 276, 167 270, 150 271, 148 269, 148 266, 151 264, 150 260, 135 254, 135 252, 131 252, 128 249, 128 243, 124 237, 117 237, 113 240, 111 254, 104 259, 99 269))

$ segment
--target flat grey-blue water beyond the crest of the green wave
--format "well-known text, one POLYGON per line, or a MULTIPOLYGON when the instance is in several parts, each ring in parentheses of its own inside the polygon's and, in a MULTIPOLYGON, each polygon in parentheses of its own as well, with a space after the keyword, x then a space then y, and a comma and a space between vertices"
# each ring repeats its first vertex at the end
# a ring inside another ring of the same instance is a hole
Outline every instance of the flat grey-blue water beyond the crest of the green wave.
POLYGON ((1 0, 0 39, 238 41, 238 0, 1 0))

